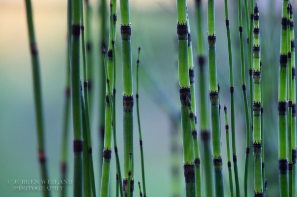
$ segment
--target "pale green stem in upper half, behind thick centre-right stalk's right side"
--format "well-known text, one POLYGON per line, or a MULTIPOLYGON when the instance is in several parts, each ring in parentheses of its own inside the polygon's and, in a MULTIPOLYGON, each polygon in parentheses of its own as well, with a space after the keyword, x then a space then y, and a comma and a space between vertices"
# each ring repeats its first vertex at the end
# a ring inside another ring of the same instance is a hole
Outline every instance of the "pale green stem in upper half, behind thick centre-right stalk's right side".
POLYGON ((194 60, 193 60, 193 49, 192 49, 192 39, 191 39, 191 29, 189 23, 189 13, 187 8, 187 25, 188 25, 188 59, 189 59, 189 79, 190 79, 190 89, 191 89, 191 104, 193 108, 193 113, 195 117, 195 124, 197 124, 197 110, 196 110, 196 94, 195 94, 195 72, 194 72, 194 60))

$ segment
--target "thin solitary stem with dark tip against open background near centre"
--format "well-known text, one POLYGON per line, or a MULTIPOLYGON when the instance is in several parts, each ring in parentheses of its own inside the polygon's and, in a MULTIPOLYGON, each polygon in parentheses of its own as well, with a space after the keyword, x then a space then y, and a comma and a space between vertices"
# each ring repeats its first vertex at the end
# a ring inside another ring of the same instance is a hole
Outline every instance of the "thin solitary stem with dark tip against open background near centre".
POLYGON ((139 145, 140 145, 140 156, 141 156, 141 172, 142 172, 142 184, 143 184, 143 196, 146 197, 146 183, 144 176, 144 160, 143 160, 143 146, 142 146, 142 136, 141 136, 141 126, 140 126, 140 115, 139 115, 139 55, 140 55, 140 47, 138 47, 138 56, 137 56, 137 64, 136 64, 136 106, 137 106, 137 121, 138 121, 138 131, 139 131, 139 145))

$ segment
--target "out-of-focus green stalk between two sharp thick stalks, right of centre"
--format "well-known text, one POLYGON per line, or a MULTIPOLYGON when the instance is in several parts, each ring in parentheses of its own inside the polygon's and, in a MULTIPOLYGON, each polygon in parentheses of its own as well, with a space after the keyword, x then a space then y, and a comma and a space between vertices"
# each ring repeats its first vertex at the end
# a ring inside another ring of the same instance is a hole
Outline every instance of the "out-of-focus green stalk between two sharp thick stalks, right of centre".
POLYGON ((205 195, 209 197, 214 196, 214 171, 211 169, 212 152, 210 145, 211 133, 208 125, 208 110, 206 102, 206 67, 205 67, 205 48, 204 48, 204 31, 203 31, 203 7, 202 1, 196 0, 196 21, 197 21, 197 38, 198 38, 198 65, 199 65, 199 101, 200 111, 199 114, 205 114, 200 116, 200 134, 203 146, 203 161, 205 172, 205 195))

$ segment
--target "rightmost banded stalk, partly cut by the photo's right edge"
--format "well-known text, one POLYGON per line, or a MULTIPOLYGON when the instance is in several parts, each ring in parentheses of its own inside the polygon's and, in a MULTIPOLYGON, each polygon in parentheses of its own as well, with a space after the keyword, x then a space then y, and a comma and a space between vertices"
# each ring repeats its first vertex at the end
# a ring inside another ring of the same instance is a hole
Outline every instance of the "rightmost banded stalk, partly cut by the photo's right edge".
POLYGON ((295 62, 295 33, 293 20, 293 7, 290 2, 290 32, 292 54, 292 168, 293 168, 293 196, 297 196, 297 173, 296 173, 296 62, 295 62))

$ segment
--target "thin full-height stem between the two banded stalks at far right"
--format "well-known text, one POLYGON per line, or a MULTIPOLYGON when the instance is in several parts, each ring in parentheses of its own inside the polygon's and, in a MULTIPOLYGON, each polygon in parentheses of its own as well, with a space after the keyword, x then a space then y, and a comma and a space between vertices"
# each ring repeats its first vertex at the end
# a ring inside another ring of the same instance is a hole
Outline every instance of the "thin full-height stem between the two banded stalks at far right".
POLYGON ((290 31, 290 5, 287 6, 287 51, 288 51, 288 84, 289 84, 289 102, 288 102, 288 156, 289 156, 289 197, 293 195, 293 162, 292 162, 292 55, 291 55, 291 31, 290 31))

